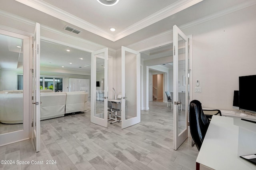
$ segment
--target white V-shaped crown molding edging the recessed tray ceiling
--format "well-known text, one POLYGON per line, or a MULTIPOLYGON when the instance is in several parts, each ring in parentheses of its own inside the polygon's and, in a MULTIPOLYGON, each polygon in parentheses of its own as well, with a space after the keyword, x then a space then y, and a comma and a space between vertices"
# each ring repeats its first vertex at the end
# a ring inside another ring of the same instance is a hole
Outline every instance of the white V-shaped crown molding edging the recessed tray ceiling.
POLYGON ((128 28, 114 35, 72 14, 69 14, 64 10, 56 8, 55 6, 52 6, 51 4, 48 4, 44 1, 40 1, 40 0, 16 0, 16 1, 22 4, 25 4, 27 6, 30 6, 31 8, 34 8, 41 12, 44 12, 50 16, 54 16, 55 18, 58 18, 60 20, 73 24, 74 26, 78 26, 79 28, 92 32, 112 42, 115 42, 117 40, 120 40, 121 38, 124 38, 134 32, 137 32, 142 28, 150 26, 155 22, 158 22, 168 16, 171 16, 177 12, 180 12, 203 0, 179 0, 171 4, 170 6, 167 6, 166 8, 152 14, 151 16, 148 16, 147 18, 144 18, 143 20, 137 22, 136 24, 133 24, 132 26, 129 26, 128 28))

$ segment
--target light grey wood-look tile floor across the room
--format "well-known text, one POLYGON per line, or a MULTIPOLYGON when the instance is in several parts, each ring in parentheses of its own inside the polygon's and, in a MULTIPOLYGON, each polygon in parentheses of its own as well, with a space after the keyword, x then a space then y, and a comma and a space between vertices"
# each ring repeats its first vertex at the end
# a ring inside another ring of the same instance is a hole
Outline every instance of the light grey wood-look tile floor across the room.
POLYGON ((198 155, 196 146, 191 147, 191 138, 177 151, 172 149, 172 110, 157 101, 150 102, 149 111, 141 111, 141 123, 123 130, 121 123, 108 122, 108 128, 90 123, 90 109, 41 121, 40 152, 35 152, 32 142, 0 147, 0 160, 30 162, 0 164, 0 169, 195 170, 198 155), (46 164, 47 160, 56 164, 46 164), (33 161, 43 164, 31 164, 33 161))

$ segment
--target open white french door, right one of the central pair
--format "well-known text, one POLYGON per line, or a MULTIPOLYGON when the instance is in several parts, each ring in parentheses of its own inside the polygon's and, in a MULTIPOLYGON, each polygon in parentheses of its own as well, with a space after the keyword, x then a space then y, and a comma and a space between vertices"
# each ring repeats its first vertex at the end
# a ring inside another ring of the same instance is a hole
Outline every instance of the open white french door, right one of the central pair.
POLYGON ((140 53, 122 46, 122 129, 140 123, 140 53))

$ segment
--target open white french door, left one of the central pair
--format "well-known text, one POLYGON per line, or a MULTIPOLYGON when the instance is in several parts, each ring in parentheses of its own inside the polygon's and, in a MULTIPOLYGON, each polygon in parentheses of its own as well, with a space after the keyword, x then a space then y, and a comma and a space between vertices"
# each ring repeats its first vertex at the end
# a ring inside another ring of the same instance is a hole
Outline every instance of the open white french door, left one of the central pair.
POLYGON ((91 122, 108 127, 108 48, 92 52, 91 75, 91 122))

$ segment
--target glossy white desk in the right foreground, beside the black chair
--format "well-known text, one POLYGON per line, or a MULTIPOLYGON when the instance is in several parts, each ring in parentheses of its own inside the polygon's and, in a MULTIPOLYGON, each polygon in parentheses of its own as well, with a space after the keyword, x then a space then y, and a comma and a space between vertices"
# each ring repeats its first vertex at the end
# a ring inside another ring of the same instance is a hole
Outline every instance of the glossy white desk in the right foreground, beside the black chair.
MULTIPOLYGON (((236 120, 235 124, 241 120, 236 120)), ((244 124, 242 121, 241 124, 244 124)), ((246 122, 247 123, 247 122, 246 122)), ((239 130, 234 125, 234 119, 231 117, 213 116, 206 132, 206 136, 196 159, 196 170, 256 170, 256 165, 244 160, 238 156, 239 130)), ((250 123, 250 129, 255 134, 256 124, 250 123)), ((250 142, 243 138, 242 142, 250 142)), ((252 154, 256 154, 256 141, 251 144, 242 146, 244 148, 252 148, 252 154), (254 151, 253 151, 254 150, 254 151), (254 153, 255 152, 255 153, 254 153)))

